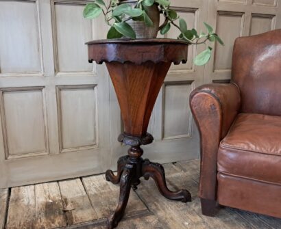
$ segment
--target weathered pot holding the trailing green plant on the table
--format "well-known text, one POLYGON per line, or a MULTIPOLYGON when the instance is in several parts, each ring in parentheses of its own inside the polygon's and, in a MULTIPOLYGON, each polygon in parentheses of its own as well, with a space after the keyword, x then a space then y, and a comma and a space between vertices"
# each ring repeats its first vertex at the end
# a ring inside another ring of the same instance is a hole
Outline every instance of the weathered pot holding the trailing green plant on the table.
MULTIPOLYGON (((138 3, 138 1, 125 0, 125 1, 121 1, 120 4, 123 3, 129 3, 134 8, 138 3)), ((131 27, 136 32, 137 39, 157 37, 159 31, 159 25, 160 25, 160 14, 159 14, 158 6, 154 4, 151 7, 147 7, 146 12, 149 18, 151 19, 151 21, 153 22, 153 26, 151 27, 145 25, 143 21, 133 21, 133 20, 127 21, 127 23, 131 25, 131 27)))

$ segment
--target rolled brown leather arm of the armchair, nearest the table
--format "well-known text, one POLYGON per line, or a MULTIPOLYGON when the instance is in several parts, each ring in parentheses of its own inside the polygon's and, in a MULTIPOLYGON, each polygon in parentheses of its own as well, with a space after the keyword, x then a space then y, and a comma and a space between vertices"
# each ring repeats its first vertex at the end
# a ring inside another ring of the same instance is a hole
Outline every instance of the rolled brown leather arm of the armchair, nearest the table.
POLYGON ((219 142, 239 112, 239 87, 234 83, 202 85, 191 93, 190 105, 200 133, 199 197, 216 200, 219 142))

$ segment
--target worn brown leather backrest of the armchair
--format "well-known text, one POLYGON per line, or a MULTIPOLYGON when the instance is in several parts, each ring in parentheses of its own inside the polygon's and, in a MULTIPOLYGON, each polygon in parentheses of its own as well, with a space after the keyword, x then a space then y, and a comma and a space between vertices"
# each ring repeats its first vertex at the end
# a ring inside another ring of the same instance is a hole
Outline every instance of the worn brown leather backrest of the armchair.
POLYGON ((236 39, 232 82, 241 90, 241 113, 281 116, 281 29, 236 39))

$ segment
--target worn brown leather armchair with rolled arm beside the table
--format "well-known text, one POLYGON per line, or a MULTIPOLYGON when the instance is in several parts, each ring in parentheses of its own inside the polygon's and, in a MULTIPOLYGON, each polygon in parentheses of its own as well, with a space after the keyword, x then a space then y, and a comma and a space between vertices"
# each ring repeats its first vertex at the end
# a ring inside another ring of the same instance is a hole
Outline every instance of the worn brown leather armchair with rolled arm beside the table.
POLYGON ((230 84, 191 94, 201 137, 199 197, 281 217, 281 29, 237 38, 230 84))

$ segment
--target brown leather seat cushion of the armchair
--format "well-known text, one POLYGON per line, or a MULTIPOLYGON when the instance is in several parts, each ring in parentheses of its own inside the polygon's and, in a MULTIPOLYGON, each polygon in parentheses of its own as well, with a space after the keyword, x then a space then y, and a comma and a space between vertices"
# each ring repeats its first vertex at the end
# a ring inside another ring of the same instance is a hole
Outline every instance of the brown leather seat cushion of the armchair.
POLYGON ((281 117, 239 114, 217 161, 221 173, 281 185, 281 117))

